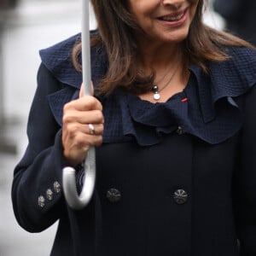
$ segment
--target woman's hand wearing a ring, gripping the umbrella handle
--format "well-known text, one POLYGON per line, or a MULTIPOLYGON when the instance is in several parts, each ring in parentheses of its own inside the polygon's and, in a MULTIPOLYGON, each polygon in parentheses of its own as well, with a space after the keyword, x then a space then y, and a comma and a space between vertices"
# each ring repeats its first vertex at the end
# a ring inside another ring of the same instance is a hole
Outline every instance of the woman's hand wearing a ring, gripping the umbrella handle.
POLYGON ((102 144, 103 124, 102 103, 94 96, 83 96, 82 89, 78 100, 64 106, 62 144, 69 164, 77 166, 85 159, 90 146, 102 144))

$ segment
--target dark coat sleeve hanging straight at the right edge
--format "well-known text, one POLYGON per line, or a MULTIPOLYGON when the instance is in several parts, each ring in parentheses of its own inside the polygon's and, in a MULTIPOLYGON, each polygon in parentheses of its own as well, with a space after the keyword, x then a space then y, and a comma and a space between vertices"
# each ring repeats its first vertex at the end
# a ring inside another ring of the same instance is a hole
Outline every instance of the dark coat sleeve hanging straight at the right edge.
POLYGON ((256 255, 256 87, 242 102, 245 123, 234 179, 234 209, 241 256, 256 255))

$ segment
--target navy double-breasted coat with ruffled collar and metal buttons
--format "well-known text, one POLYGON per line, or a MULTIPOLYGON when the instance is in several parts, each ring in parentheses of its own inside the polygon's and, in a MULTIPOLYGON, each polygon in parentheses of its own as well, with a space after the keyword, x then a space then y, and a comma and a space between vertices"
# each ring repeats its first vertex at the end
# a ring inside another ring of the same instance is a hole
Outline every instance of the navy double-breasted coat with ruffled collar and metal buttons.
MULTIPOLYGON (((19 224, 40 232, 59 220, 52 256, 256 255, 255 51, 230 48, 232 58, 211 63, 209 75, 190 67, 186 89, 166 103, 125 90, 99 97, 96 190, 74 211, 62 194, 61 117, 79 96, 81 75, 70 61, 78 37, 41 51, 29 144, 12 187, 19 224)), ((101 48, 91 59, 96 86, 108 61, 101 48)))

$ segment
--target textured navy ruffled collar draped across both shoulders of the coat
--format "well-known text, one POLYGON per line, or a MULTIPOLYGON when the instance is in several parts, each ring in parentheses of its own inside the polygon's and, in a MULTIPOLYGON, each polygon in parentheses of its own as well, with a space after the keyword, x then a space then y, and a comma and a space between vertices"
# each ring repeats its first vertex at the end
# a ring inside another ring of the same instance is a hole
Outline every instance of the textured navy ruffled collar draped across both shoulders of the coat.
MULTIPOLYGON (((46 67, 62 83, 79 89, 81 74, 70 61, 73 44, 79 35, 40 52, 46 67)), ((147 146, 160 143, 180 127, 183 134, 216 144, 236 134, 243 116, 236 97, 256 84, 256 53, 253 49, 231 48, 230 60, 212 62, 209 75, 201 67, 191 66, 185 90, 165 103, 151 103, 125 90, 115 90, 102 98, 105 116, 104 143, 136 140, 147 146), (182 101, 183 98, 188 101, 182 101)), ((97 84, 108 66, 103 48, 91 49, 92 80, 97 84)))

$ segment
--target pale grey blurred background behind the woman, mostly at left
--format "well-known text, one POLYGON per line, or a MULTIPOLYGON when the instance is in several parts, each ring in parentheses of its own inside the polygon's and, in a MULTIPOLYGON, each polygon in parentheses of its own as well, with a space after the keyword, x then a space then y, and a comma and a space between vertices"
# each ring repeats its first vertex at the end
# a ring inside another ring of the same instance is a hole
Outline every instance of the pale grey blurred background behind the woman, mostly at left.
MULTIPOLYGON (((0 0, 0 256, 47 256, 54 241, 56 225, 30 234, 16 223, 11 182, 26 148, 26 121, 40 64, 38 50, 80 31, 79 1, 0 0)), ((224 19, 210 6, 205 22, 224 29, 224 19)), ((96 27, 92 11, 90 26, 96 27)))

